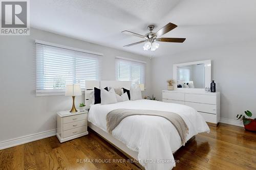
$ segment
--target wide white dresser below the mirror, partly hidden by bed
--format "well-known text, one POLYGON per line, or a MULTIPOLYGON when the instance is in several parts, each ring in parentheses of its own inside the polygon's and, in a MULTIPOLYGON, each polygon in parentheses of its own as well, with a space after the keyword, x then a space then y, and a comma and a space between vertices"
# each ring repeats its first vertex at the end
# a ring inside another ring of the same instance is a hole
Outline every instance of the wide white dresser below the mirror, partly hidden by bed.
POLYGON ((193 107, 208 125, 218 126, 220 122, 220 92, 163 90, 162 101, 193 107))

